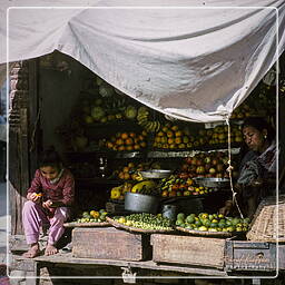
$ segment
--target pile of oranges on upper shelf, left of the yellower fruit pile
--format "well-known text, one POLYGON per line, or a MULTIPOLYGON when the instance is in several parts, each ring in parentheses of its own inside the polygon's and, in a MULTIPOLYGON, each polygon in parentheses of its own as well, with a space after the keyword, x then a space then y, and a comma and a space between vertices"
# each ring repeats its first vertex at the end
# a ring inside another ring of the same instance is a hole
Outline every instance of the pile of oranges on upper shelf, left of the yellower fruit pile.
POLYGON ((134 131, 117 132, 106 141, 106 147, 112 150, 139 150, 147 146, 147 134, 142 131, 136 134, 134 131))

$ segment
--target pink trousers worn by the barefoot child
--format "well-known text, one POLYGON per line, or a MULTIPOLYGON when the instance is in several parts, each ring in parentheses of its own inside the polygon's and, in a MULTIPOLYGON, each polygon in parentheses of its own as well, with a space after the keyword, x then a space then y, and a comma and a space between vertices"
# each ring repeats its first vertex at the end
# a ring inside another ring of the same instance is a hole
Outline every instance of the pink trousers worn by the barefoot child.
POLYGON ((69 212, 67 207, 56 209, 52 218, 48 217, 40 204, 28 200, 22 209, 22 224, 27 244, 35 244, 39 240, 40 227, 49 226, 48 244, 55 245, 65 232, 63 223, 69 212))

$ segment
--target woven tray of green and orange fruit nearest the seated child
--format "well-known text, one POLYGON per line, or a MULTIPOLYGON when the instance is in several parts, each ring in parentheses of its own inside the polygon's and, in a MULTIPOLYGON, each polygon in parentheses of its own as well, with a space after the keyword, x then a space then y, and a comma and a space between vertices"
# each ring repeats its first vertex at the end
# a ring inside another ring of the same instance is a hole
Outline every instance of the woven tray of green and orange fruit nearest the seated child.
POLYGON ((109 223, 106 220, 108 213, 106 209, 91 209, 91 210, 85 210, 81 213, 81 215, 70 222, 65 223, 65 227, 99 227, 99 226, 108 226, 109 223))

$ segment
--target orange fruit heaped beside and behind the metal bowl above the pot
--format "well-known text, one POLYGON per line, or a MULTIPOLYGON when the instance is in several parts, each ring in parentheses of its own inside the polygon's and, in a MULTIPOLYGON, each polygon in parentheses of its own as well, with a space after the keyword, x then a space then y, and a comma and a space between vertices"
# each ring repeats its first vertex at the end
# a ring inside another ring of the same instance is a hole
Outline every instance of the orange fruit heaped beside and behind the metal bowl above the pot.
POLYGON ((144 178, 139 174, 141 170, 160 169, 158 163, 128 163, 126 166, 120 167, 114 171, 114 176, 122 180, 142 180, 144 178))

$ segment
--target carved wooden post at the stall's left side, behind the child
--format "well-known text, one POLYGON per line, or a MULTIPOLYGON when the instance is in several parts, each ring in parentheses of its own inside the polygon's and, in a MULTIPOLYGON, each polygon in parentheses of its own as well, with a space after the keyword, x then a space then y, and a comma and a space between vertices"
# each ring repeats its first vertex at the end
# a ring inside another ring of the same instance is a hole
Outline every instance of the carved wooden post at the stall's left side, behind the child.
MULTIPOLYGON (((31 177, 29 150, 31 126, 29 67, 31 65, 31 61, 20 61, 10 70, 8 163, 12 235, 22 234, 21 210, 31 177)), ((33 79, 36 80, 36 77, 33 79)))

